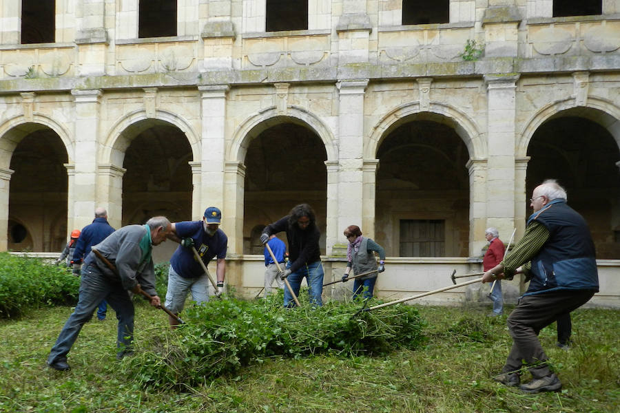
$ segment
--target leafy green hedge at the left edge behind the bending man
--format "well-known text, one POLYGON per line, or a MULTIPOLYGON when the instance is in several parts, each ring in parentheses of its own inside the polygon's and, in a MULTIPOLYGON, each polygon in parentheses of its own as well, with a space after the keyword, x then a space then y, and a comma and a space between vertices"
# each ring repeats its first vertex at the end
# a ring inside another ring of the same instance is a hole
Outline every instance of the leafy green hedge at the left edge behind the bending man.
POLYGON ((30 308, 74 305, 80 279, 65 266, 39 258, 0 253, 0 317, 19 317, 30 308))

